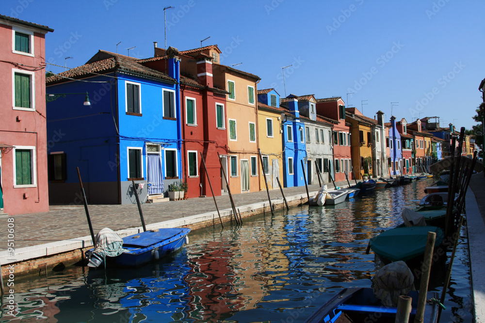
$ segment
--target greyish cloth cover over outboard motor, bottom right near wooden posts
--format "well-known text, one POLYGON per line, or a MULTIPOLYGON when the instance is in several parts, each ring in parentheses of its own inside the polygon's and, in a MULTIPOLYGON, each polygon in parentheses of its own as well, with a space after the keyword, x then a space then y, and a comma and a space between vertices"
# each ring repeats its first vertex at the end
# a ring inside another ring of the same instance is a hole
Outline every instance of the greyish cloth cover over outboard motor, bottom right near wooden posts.
POLYGON ((414 277, 404 261, 391 262, 372 278, 375 297, 385 306, 396 307, 399 296, 414 290, 414 277))

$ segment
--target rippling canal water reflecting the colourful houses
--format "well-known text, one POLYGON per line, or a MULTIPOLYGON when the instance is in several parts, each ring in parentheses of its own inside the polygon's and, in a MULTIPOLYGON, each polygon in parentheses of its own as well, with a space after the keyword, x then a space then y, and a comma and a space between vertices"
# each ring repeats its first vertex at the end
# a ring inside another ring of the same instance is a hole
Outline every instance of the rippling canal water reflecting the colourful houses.
MULTIPOLYGON (((431 183, 194 231, 180 252, 137 270, 70 267, 17 281, 15 316, 4 305, 1 322, 304 322, 342 288, 371 286, 382 264, 365 254, 369 238, 401 223, 431 183)), ((466 232, 440 322, 473 322, 466 232)), ((441 293, 443 278, 434 266, 430 290, 441 293)))

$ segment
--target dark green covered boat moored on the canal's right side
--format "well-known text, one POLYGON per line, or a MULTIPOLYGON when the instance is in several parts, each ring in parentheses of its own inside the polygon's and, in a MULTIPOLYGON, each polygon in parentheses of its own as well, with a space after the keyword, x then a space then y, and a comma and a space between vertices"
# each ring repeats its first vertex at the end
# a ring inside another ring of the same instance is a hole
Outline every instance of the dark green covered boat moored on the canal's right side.
POLYGON ((443 242, 444 233, 438 227, 398 227, 382 232, 369 241, 372 251, 384 262, 408 261, 422 257, 428 232, 436 232, 435 247, 443 242))

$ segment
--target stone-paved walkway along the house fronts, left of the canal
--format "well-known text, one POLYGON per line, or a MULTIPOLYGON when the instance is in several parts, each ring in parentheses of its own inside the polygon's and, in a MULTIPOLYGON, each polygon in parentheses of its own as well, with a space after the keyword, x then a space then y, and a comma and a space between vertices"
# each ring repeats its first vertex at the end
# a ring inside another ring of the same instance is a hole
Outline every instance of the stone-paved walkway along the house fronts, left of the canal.
MULTIPOLYGON (((351 183, 352 184, 352 183, 351 183)), ((327 184, 328 185, 328 184, 327 184)), ((346 187, 347 182, 336 182, 337 186, 346 187)), ((333 188, 333 185, 328 185, 333 188)), ((309 185, 308 191, 318 191, 319 185, 309 185)), ((303 194, 306 196, 305 186, 287 187, 283 189, 285 196, 303 194)), ((272 201, 282 199, 281 191, 270 191, 272 201)), ((268 201, 266 190, 259 192, 234 194, 233 200, 238 206, 268 201)), ((216 197, 219 210, 231 207, 229 196, 216 197)), ((93 231, 96 234, 103 228, 113 230, 128 229, 141 226, 140 215, 136 204, 132 205, 88 205, 93 231)), ((142 204, 142 211, 146 225, 162 221, 175 220, 190 215, 198 215, 216 210, 212 197, 194 198, 188 200, 166 201, 142 204)), ((0 250, 7 248, 6 236, 8 217, 0 218, 0 250)), ((84 212, 84 206, 65 205, 50 206, 49 212, 12 216, 15 219, 15 248, 42 245, 49 242, 67 240, 88 236, 89 227, 84 212)))

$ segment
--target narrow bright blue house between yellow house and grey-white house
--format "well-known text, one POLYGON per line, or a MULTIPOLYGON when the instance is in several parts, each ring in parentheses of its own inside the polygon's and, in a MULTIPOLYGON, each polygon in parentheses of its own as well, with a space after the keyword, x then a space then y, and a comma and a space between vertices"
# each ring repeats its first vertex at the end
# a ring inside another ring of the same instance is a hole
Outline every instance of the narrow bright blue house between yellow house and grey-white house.
POLYGON ((285 187, 305 185, 305 171, 302 162, 305 163, 307 148, 305 144, 304 127, 300 122, 298 99, 282 99, 281 103, 288 112, 282 114, 283 125, 283 181, 285 187))

